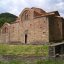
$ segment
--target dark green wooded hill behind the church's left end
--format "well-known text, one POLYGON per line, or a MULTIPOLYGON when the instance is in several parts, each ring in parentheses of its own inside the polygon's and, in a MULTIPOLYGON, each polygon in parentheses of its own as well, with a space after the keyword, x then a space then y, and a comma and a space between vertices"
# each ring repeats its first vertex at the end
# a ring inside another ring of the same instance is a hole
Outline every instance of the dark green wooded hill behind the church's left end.
POLYGON ((16 20, 17 16, 11 14, 11 13, 1 13, 0 14, 0 27, 5 23, 11 23, 16 20))

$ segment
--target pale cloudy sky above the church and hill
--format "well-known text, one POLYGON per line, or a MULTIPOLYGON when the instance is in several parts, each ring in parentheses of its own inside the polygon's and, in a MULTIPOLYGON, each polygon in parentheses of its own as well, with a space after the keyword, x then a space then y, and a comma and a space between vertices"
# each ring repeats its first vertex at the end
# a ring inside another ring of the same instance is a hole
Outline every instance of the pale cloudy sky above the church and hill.
POLYGON ((19 15, 24 8, 38 7, 47 12, 59 11, 64 17, 64 0, 0 0, 0 13, 19 15))

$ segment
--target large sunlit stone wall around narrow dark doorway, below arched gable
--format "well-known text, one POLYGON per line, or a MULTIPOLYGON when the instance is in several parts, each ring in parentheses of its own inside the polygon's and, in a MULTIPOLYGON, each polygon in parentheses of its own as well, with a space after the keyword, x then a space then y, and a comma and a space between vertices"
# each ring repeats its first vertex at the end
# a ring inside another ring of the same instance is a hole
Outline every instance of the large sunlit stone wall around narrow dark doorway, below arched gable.
POLYGON ((35 18, 33 20, 21 23, 21 42, 25 43, 25 34, 27 34, 27 44, 49 42, 48 38, 48 19, 46 17, 35 18))

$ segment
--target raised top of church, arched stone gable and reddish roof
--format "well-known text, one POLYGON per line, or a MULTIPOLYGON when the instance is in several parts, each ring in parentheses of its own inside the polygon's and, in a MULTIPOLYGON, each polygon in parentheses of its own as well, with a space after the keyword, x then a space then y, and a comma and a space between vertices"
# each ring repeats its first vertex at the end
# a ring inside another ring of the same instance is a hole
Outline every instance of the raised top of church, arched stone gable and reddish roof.
POLYGON ((19 17, 21 18, 21 21, 25 21, 25 20, 29 20, 32 19, 36 16, 41 16, 46 14, 46 12, 40 8, 25 8, 21 14, 19 15, 19 17))

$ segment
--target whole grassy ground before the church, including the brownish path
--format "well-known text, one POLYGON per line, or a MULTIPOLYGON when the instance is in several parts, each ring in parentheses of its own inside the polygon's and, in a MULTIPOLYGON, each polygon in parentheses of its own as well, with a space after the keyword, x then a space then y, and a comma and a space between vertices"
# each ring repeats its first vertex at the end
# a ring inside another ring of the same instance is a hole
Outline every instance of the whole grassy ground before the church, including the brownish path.
POLYGON ((0 64, 64 64, 62 59, 42 59, 40 56, 48 56, 48 45, 7 45, 0 44, 0 64), (1 58, 1 56, 3 56, 1 58), (6 55, 11 55, 11 58, 6 58, 6 55), (14 58, 15 56, 15 58, 14 58), (37 57, 37 59, 21 57, 37 57), (3 59, 4 58, 4 59, 3 59), (31 59, 31 60, 29 60, 31 59), (61 61, 61 62, 60 62, 61 61))

